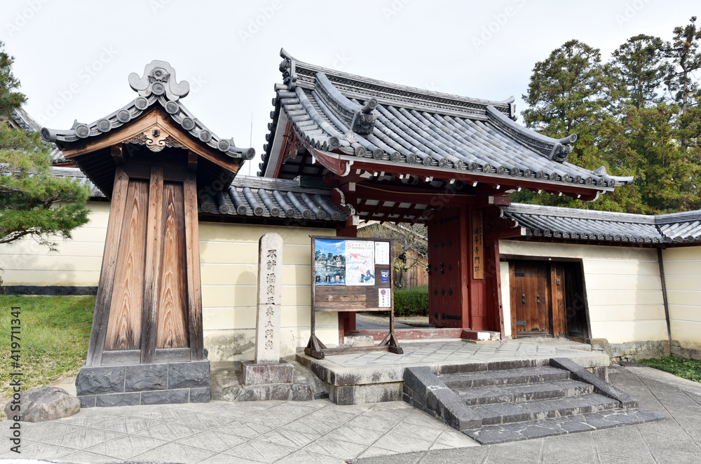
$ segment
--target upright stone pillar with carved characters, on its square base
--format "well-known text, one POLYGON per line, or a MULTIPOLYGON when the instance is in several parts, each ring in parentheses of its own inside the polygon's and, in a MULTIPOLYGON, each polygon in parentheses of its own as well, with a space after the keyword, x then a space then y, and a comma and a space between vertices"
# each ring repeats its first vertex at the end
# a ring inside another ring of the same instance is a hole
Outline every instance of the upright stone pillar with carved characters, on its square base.
POLYGON ((292 383, 292 364, 280 361, 282 280, 283 238, 269 232, 258 243, 256 353, 241 363, 244 385, 292 383))

